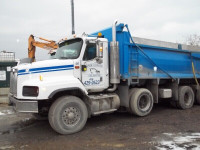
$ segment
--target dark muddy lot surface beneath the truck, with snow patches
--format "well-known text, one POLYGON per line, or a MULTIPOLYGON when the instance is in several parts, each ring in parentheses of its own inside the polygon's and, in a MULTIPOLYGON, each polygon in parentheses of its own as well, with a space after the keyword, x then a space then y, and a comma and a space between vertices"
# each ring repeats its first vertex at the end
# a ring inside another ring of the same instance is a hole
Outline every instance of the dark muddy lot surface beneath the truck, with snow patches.
POLYGON ((83 131, 66 136, 30 114, 2 114, 0 149, 200 149, 200 106, 178 110, 161 103, 143 118, 119 112, 92 117, 83 131))

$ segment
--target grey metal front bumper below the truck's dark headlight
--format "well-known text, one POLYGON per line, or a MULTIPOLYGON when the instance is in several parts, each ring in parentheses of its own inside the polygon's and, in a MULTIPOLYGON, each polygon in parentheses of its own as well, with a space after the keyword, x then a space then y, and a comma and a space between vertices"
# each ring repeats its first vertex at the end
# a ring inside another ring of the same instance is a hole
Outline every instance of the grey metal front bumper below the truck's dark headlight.
POLYGON ((10 103, 17 112, 38 113, 38 101, 18 100, 13 96, 9 96, 10 103))

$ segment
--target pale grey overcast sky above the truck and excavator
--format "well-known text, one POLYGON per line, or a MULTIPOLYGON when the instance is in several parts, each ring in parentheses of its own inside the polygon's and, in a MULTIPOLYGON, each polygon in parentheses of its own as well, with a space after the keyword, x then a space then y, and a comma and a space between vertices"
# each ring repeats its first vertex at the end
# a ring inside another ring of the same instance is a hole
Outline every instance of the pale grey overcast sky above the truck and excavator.
MULTIPOLYGON (((76 33, 127 23, 133 36, 183 42, 200 34, 200 0, 74 0, 76 33)), ((0 0, 0 51, 27 57, 30 34, 58 41, 71 34, 70 0, 0 0)), ((48 58, 37 49, 36 58, 48 58)))

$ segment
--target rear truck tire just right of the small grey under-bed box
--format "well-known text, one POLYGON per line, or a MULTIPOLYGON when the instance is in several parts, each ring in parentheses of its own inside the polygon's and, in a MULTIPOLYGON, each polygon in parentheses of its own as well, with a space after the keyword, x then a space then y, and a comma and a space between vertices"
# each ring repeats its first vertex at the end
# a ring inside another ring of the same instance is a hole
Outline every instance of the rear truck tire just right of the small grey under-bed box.
POLYGON ((178 107, 180 109, 189 109, 194 104, 194 92, 189 86, 180 86, 178 91, 178 107))

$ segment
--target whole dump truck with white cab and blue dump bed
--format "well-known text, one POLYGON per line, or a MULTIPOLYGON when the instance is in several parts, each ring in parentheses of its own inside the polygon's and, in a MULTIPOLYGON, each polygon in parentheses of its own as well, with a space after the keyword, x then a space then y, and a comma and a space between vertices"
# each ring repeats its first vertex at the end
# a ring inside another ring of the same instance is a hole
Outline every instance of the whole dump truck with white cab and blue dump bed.
POLYGON ((9 98, 18 112, 48 116, 60 134, 119 109, 146 116, 163 99, 179 109, 200 104, 199 47, 132 37, 117 21, 58 45, 55 59, 12 68, 9 98))

